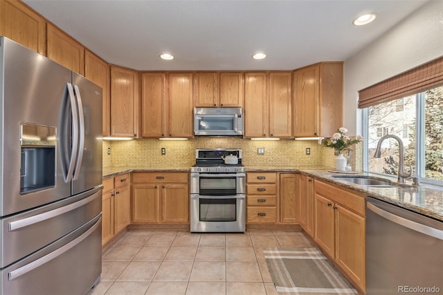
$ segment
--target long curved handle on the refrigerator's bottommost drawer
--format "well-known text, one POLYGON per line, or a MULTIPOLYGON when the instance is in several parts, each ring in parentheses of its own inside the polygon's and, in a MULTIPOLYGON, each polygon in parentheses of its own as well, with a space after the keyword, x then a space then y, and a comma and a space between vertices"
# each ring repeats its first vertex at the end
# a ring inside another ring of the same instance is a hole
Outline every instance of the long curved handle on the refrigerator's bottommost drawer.
POLYGON ((15 269, 13 271, 10 271, 8 273, 8 280, 14 280, 15 278, 19 278, 20 276, 23 276, 24 274, 27 274, 29 271, 32 271, 33 269, 36 269, 37 267, 40 267, 44 265, 46 262, 49 262, 58 256, 61 256, 66 251, 69 251, 73 247, 77 246, 82 242, 82 240, 86 239, 95 231, 98 226, 100 226, 100 221, 102 220, 102 217, 100 217, 97 222, 91 227, 91 229, 88 229, 86 232, 84 232, 82 235, 80 235, 75 240, 69 242, 68 244, 65 244, 63 247, 60 247, 59 249, 49 253, 48 255, 43 256, 42 258, 39 258, 33 262, 28 263, 27 265, 24 265, 23 267, 19 267, 18 269, 15 269))

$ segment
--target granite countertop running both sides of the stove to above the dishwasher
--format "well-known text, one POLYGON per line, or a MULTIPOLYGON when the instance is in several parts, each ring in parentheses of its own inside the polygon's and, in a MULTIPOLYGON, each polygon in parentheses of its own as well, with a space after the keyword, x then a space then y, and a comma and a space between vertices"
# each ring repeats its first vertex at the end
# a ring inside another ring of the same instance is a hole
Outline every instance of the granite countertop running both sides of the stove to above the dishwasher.
MULTIPOLYGON (((334 172, 328 172, 327 167, 309 167, 309 166, 246 166, 246 172, 301 172, 305 175, 315 177, 322 181, 329 181, 337 186, 349 188, 362 195, 368 195, 381 199, 391 204, 406 208, 410 211, 432 217, 435 220, 443 222, 443 188, 438 186, 362 186, 347 181, 341 181, 332 177, 340 175, 334 172)), ((186 167, 153 167, 153 166, 109 166, 102 170, 103 178, 115 177, 127 172, 189 172, 190 166, 186 167)), ((346 174, 347 176, 350 176, 346 174)), ((368 175, 361 172, 358 175, 368 175)), ((385 178, 385 177, 383 177, 385 178)), ((396 178, 390 179, 395 183, 396 178)))

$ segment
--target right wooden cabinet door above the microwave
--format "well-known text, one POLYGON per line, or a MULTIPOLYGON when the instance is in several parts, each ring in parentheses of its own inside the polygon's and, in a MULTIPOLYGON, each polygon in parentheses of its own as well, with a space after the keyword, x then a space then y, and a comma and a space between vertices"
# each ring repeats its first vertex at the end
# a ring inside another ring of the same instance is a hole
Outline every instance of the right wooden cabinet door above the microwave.
POLYGON ((243 73, 220 73, 220 107, 243 107, 243 73))

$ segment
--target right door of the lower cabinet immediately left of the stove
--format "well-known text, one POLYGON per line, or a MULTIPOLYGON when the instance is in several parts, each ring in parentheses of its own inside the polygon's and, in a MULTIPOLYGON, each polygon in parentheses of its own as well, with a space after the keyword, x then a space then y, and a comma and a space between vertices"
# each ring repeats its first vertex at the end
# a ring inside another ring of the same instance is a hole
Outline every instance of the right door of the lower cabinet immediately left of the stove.
POLYGON ((188 223, 188 184, 163 184, 161 189, 162 222, 188 223))

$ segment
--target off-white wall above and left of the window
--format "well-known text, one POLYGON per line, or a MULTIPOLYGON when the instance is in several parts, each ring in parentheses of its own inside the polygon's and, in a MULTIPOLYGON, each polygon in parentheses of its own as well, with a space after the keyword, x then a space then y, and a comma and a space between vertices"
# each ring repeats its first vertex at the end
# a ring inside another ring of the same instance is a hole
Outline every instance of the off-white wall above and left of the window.
POLYGON ((432 0, 345 60, 343 122, 350 134, 362 134, 357 91, 441 57, 442 35, 443 1, 432 0))

